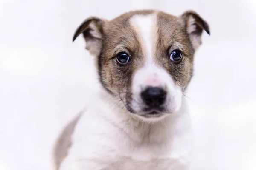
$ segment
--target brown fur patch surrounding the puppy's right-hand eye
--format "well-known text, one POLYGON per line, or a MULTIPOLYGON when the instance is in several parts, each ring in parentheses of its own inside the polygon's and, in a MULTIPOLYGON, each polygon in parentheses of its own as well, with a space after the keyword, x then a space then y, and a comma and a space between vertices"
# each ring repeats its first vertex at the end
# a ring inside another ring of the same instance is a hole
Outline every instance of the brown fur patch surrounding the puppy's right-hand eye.
POLYGON ((157 25, 157 62, 172 75, 177 85, 185 88, 189 83, 195 52, 189 35, 179 18, 163 12, 158 14, 157 25), (175 49, 182 52, 180 62, 172 62, 169 59, 175 49))

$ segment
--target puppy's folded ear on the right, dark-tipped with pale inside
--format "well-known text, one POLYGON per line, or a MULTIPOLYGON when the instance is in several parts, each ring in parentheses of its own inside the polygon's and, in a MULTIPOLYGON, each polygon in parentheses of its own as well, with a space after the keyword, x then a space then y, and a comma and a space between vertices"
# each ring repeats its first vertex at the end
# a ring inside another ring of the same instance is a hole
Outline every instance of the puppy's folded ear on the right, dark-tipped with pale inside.
POLYGON ((180 18, 185 24, 186 31, 189 34, 189 38, 192 42, 195 50, 202 44, 201 36, 203 30, 210 35, 209 26, 206 21, 204 21, 195 11, 186 11, 180 18))

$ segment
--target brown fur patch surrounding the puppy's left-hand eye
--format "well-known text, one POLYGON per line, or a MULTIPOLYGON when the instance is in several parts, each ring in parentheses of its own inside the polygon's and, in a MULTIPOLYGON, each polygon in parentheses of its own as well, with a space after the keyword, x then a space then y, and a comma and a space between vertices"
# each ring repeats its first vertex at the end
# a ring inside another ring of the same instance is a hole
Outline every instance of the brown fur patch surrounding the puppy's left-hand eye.
POLYGON ((141 67, 141 60, 143 60, 142 45, 129 20, 135 14, 148 15, 153 12, 132 11, 125 13, 109 21, 103 27, 103 49, 98 58, 99 73, 102 83, 113 93, 123 93, 130 89, 132 74, 141 67), (116 62, 116 54, 122 51, 131 57, 131 62, 126 65, 119 65, 116 62))

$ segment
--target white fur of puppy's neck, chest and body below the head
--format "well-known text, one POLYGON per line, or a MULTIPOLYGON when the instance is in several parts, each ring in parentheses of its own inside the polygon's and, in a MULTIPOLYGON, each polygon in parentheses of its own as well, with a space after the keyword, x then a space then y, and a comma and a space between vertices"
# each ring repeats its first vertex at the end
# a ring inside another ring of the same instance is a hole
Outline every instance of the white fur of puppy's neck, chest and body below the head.
POLYGON ((60 170, 187 170, 190 118, 186 102, 178 114, 142 122, 99 91, 79 120, 60 170), (99 107, 100 106, 100 107, 99 107))

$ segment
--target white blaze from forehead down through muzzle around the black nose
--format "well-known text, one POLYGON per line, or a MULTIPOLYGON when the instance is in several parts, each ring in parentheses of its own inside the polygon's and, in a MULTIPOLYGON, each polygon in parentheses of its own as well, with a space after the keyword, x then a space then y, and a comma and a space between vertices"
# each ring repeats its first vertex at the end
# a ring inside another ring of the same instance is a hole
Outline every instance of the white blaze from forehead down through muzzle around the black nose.
POLYGON ((138 114, 143 113, 143 100, 141 92, 147 87, 160 87, 167 91, 165 104, 167 112, 175 112, 180 108, 182 93, 176 87, 172 77, 165 68, 162 68, 155 61, 157 59, 157 13, 148 15, 135 15, 130 20, 136 31, 138 40, 142 48, 143 65, 134 73, 131 91, 133 100, 131 108, 138 114))

